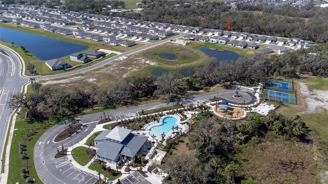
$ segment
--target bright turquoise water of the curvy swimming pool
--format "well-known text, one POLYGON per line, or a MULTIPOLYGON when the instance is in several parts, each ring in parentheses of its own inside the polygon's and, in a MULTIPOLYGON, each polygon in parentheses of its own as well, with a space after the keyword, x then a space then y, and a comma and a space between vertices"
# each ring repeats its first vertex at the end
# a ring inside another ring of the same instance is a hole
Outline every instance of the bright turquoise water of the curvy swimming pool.
MULTIPOLYGON (((156 136, 160 136, 163 132, 165 133, 165 135, 167 135, 169 133, 169 131, 172 130, 172 126, 177 126, 177 122, 178 120, 174 117, 167 117, 164 118, 163 120, 163 124, 152 127, 149 132, 151 134, 155 134, 156 136)), ((176 131, 176 130, 175 130, 176 131)))

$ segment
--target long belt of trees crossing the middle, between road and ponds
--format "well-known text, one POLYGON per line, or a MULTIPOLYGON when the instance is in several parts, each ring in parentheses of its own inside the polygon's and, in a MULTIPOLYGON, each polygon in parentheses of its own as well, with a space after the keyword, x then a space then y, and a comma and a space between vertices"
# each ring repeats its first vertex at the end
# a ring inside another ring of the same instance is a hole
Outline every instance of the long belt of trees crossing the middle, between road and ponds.
POLYGON ((155 77, 152 74, 135 74, 110 88, 74 88, 70 92, 59 91, 49 86, 39 87, 31 80, 33 93, 11 95, 8 106, 15 109, 25 107, 30 120, 47 120, 97 105, 102 108, 115 108, 121 105, 136 104, 141 98, 158 96, 172 97, 186 90, 222 84, 229 87, 235 82, 253 85, 265 82, 273 76, 298 78, 300 74, 328 76, 328 43, 311 49, 277 55, 253 55, 241 57, 236 63, 216 58, 198 68, 189 78, 184 79, 177 72, 155 77))

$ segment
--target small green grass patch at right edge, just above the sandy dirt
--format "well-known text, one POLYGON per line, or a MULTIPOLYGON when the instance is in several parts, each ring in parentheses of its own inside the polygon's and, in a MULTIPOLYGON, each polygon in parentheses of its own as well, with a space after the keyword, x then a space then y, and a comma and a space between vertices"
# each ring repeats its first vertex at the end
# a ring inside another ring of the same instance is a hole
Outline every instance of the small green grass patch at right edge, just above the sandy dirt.
POLYGON ((299 82, 304 82, 309 90, 328 90, 328 78, 310 76, 305 79, 300 79, 299 82))

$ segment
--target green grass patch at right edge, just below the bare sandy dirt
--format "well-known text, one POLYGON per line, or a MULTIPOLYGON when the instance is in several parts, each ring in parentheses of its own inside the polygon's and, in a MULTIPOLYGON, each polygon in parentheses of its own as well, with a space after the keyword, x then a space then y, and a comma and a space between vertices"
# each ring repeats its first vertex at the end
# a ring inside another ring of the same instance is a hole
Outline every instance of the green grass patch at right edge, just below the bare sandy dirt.
POLYGON ((316 134, 328 143, 328 110, 325 109, 319 113, 304 113, 301 117, 311 130, 310 134, 316 134))

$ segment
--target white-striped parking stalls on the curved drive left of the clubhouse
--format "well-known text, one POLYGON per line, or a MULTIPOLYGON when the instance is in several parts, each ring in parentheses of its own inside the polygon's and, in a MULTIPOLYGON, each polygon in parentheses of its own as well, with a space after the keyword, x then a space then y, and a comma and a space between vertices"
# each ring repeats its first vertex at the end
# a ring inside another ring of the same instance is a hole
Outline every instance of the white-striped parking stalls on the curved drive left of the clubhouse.
POLYGON ((67 180, 71 180, 71 183, 93 184, 97 182, 97 176, 77 169, 71 164, 70 160, 55 162, 55 164, 58 172, 63 175, 62 177, 67 177, 67 180))

